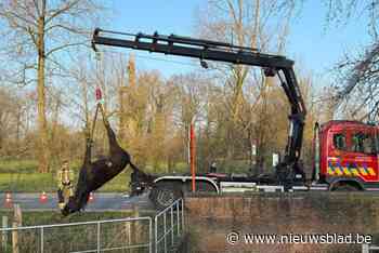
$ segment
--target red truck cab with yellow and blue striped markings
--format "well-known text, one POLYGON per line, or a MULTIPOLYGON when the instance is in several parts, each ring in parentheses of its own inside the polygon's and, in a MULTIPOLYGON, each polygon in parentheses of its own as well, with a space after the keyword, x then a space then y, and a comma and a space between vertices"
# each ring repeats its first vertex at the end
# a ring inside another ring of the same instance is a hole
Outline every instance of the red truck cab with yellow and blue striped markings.
POLYGON ((330 190, 379 190, 378 128, 332 120, 315 131, 315 175, 330 190))

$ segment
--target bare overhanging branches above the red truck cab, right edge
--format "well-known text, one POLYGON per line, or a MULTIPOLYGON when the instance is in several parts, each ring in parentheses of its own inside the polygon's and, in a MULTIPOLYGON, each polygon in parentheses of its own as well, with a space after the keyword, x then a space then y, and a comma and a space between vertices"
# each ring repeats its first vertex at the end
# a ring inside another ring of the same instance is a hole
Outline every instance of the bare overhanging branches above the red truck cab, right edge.
POLYGON ((358 53, 349 53, 336 66, 335 98, 340 99, 340 112, 363 120, 379 118, 379 1, 347 0, 324 1, 328 6, 329 24, 349 25, 356 18, 367 22, 371 41, 358 53), (351 105, 354 101, 355 106, 351 105))

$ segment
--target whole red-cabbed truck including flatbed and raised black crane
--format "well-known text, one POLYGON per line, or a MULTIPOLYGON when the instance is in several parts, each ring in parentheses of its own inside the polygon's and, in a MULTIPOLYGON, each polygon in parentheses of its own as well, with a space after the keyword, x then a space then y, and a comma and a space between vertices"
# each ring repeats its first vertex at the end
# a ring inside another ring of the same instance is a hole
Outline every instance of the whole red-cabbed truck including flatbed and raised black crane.
POLYGON ((158 32, 133 35, 97 28, 92 38, 94 50, 97 44, 198 58, 204 67, 207 67, 204 61, 258 66, 265 76, 278 77, 290 104, 287 146, 273 175, 207 173, 153 176, 134 170, 132 195, 151 189, 151 199, 158 208, 165 208, 191 190, 379 190, 378 128, 356 121, 316 124, 313 175, 312 179, 306 179, 300 162, 306 109, 293 71, 293 61, 230 43, 161 36, 158 32))

